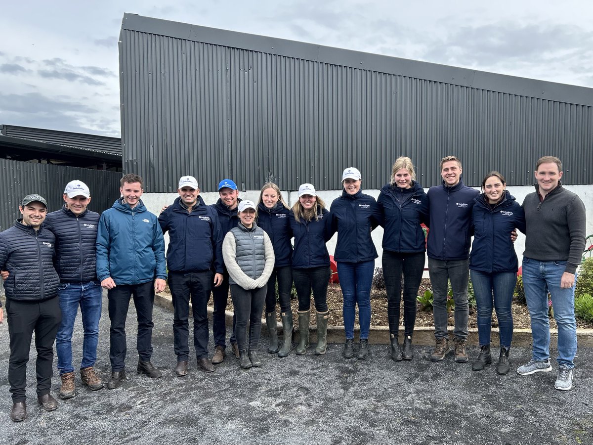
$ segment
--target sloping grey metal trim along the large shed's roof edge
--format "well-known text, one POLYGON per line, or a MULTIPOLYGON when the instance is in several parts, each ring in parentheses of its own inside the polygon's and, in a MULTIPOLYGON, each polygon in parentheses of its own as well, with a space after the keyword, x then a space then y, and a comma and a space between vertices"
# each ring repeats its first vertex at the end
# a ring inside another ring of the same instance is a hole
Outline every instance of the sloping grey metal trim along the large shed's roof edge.
POLYGON ((125 13, 122 30, 211 43, 500 93, 593 106, 593 88, 258 36, 125 13))

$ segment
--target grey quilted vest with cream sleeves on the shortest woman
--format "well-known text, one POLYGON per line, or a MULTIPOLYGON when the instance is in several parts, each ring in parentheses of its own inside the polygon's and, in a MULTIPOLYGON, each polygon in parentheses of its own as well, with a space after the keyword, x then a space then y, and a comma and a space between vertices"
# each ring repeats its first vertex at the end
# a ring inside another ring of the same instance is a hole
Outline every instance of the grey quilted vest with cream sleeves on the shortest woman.
POLYGON ((222 256, 229 275, 229 284, 245 290, 264 287, 274 268, 272 241, 256 222, 251 228, 241 222, 233 227, 222 242, 222 256))

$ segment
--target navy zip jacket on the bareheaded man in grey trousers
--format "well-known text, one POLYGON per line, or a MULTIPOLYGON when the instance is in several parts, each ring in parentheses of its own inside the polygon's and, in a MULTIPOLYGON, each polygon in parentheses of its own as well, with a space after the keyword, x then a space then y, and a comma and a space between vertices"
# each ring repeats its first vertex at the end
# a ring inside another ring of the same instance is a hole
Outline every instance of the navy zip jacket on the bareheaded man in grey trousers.
POLYGON ((428 190, 429 258, 466 260, 470 256, 471 208, 480 192, 466 186, 460 178, 457 185, 433 186, 428 190))

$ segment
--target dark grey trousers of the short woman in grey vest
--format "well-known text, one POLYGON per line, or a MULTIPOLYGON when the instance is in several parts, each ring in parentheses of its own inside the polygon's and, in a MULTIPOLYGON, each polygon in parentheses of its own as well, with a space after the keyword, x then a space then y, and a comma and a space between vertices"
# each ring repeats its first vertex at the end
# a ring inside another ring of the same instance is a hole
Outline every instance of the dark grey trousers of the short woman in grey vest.
POLYGON ((262 332, 262 311, 266 292, 266 286, 247 291, 240 285, 231 284, 232 304, 235 306, 237 317, 235 335, 237 335, 239 351, 257 349, 262 332), (247 322, 249 322, 249 344, 247 344, 247 322))

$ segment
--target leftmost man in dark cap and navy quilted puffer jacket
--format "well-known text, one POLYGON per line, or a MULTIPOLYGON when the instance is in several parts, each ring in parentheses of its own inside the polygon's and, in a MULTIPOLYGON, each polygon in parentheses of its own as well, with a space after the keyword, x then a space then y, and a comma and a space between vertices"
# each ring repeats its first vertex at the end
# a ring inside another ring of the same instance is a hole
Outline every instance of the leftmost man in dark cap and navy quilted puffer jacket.
MULTIPOLYGON (((19 206, 22 219, 0 233, 0 270, 8 271, 4 284, 10 338, 8 383, 12 393, 10 418, 27 418, 25 386, 31 337, 37 348, 37 401, 46 411, 58 408, 50 395, 53 342, 60 325, 58 272, 53 266, 55 236, 44 227, 47 202, 27 195, 19 206), (18 279, 17 279, 18 276, 18 279)), ((4 313, 0 307, 0 322, 4 313)))

